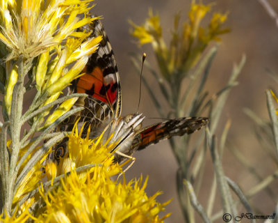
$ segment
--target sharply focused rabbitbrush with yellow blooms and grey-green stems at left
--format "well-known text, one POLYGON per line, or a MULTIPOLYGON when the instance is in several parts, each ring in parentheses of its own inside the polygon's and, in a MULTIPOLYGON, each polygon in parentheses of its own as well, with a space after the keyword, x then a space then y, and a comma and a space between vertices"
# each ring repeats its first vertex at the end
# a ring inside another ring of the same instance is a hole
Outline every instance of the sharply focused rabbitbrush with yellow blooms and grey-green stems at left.
POLYGON ((76 125, 54 131, 83 109, 72 106, 87 96, 60 97, 101 41, 78 31, 99 19, 91 8, 81 0, 0 3, 0 222, 163 222, 168 216, 158 217, 167 202, 156 201, 160 192, 147 197, 147 180, 113 180, 126 163, 113 162, 110 138, 89 139, 88 132, 83 139, 76 125), (69 156, 46 162, 65 136, 69 156))

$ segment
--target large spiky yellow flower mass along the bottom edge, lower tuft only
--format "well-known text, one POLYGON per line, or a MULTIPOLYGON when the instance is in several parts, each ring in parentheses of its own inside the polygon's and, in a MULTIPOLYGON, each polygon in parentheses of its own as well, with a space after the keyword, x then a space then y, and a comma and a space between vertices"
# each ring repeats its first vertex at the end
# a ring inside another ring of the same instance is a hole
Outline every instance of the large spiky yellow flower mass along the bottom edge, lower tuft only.
POLYGON ((147 180, 142 183, 141 177, 117 183, 105 169, 95 167, 85 180, 72 172, 57 190, 41 192, 46 207, 35 222, 163 222, 169 216, 159 219, 158 213, 169 201, 161 204, 155 200, 161 192, 147 197, 147 180))

